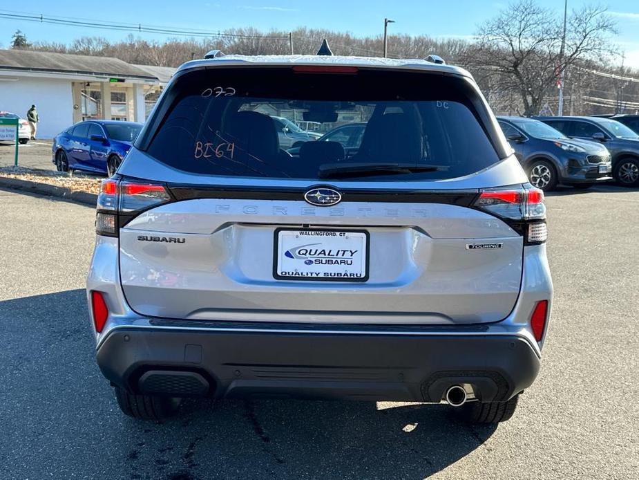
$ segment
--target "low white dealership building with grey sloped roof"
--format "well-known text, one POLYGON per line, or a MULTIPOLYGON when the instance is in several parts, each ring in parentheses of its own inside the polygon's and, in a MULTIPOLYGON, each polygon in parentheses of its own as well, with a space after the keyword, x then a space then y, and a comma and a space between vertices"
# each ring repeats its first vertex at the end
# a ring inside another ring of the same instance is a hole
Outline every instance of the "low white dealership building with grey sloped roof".
POLYGON ((90 118, 144 122, 175 68, 112 57, 0 49, 0 111, 37 105, 39 138, 90 118))

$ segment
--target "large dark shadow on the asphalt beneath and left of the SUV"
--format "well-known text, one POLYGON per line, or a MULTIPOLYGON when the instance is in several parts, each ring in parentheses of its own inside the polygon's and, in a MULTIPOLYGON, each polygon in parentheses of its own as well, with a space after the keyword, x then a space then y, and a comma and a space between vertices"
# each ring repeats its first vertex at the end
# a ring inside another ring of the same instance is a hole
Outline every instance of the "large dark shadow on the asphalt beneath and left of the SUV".
POLYGON ((85 298, 0 302, 0 477, 421 479, 495 432, 443 405, 371 402, 187 400, 136 421, 97 369, 85 298))

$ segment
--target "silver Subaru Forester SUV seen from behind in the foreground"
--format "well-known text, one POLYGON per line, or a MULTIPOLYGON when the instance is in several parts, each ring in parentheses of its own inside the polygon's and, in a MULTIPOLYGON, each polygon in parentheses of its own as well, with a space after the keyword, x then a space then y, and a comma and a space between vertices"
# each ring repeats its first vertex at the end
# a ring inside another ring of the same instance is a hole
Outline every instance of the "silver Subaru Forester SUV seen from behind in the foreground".
POLYGON ((178 69, 102 183, 87 295, 125 414, 184 397, 447 403, 510 418, 551 308, 546 208, 473 77, 421 60, 178 69), (361 145, 281 148, 271 116, 361 145))

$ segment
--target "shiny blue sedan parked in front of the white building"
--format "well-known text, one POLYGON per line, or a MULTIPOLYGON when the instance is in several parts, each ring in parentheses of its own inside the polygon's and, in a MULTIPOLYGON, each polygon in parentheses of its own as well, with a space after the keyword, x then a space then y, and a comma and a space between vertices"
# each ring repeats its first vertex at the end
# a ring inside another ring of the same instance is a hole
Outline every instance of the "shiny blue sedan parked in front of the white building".
POLYGON ((53 163, 59 172, 84 170, 111 176, 142 124, 117 120, 79 122, 53 139, 53 163))

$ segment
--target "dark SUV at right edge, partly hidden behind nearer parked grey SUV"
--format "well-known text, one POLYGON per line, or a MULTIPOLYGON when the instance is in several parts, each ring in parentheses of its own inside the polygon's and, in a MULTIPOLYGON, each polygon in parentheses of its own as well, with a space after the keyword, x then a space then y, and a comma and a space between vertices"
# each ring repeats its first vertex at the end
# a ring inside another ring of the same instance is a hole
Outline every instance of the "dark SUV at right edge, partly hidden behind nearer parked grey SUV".
POLYGON ((639 135, 611 118, 539 117, 571 138, 598 140, 612 157, 613 177, 626 187, 639 186, 639 135))

